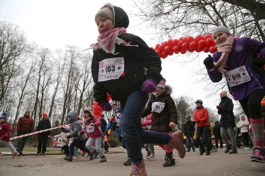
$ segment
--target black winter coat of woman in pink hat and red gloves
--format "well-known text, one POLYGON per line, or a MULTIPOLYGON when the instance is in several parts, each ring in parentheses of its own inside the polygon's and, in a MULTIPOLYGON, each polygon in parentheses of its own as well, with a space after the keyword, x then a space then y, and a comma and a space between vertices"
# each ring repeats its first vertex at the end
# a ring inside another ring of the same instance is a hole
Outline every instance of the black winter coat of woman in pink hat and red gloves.
POLYGON ((217 112, 221 115, 220 126, 235 127, 234 104, 232 100, 228 97, 221 97, 219 105, 222 107, 222 109, 217 112))

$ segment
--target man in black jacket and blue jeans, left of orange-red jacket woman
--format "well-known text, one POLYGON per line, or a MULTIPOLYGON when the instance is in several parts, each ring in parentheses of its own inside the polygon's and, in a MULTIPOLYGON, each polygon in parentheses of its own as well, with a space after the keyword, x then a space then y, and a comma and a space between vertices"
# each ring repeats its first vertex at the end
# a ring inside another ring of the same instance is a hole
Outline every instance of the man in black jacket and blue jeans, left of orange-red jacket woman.
POLYGON ((184 124, 184 135, 186 136, 187 139, 187 148, 186 152, 190 152, 190 141, 191 141, 191 146, 192 146, 192 151, 195 152, 195 144, 194 144, 194 136, 195 133, 195 127, 190 121, 189 117, 186 117, 186 122, 184 124))

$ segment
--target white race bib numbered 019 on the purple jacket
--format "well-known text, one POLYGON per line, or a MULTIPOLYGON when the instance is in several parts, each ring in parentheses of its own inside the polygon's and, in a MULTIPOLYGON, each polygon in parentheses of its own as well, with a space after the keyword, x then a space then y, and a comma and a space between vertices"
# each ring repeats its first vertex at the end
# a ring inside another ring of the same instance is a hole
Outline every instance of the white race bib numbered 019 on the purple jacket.
POLYGON ((230 87, 250 81, 249 73, 244 65, 227 72, 227 74, 229 76, 226 77, 226 80, 230 87))

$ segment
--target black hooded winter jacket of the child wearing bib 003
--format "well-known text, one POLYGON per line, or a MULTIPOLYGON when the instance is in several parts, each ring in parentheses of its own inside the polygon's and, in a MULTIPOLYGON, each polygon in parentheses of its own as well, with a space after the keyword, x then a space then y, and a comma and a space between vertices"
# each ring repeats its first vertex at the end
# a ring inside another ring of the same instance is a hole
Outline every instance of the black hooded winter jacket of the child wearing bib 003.
MULTIPOLYGON (((128 16, 122 9, 115 7, 115 26, 116 27, 128 27, 128 16), (118 25, 119 24, 119 25, 118 25)), ((131 42, 131 45, 138 46, 123 46, 115 43, 115 54, 107 53, 103 49, 93 50, 93 59, 91 72, 95 82, 94 85, 94 98, 99 104, 107 101, 107 92, 114 100, 126 99, 128 95, 134 90, 141 88, 142 83, 147 79, 152 79, 159 83, 162 79, 160 74, 161 59, 159 55, 151 49, 140 38, 133 34, 123 33, 119 36, 125 42, 131 42), (119 54, 117 54, 119 53, 119 54), (102 60, 108 58, 124 58, 124 77, 119 79, 112 79, 107 81, 98 81, 99 65, 102 60), (144 73, 144 67, 147 69, 147 73, 144 73)))

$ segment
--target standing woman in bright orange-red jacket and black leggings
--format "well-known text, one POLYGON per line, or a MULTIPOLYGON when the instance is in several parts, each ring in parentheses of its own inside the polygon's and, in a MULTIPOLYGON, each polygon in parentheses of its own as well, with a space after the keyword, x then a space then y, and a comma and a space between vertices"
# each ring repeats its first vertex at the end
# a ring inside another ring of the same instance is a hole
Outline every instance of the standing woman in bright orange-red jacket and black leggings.
POLYGON ((200 155, 202 155, 204 152, 206 152, 206 155, 211 155, 210 153, 210 142, 208 139, 208 133, 209 133, 209 114, 206 108, 203 108, 202 106, 202 100, 198 99, 196 102, 196 109, 194 111, 194 120, 193 125, 197 123, 197 130, 196 130, 196 139, 200 145, 200 155), (206 144, 206 151, 202 145, 201 136, 204 136, 205 144, 206 144))

